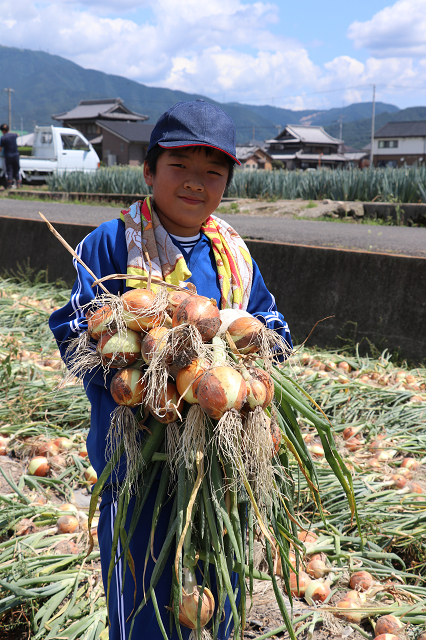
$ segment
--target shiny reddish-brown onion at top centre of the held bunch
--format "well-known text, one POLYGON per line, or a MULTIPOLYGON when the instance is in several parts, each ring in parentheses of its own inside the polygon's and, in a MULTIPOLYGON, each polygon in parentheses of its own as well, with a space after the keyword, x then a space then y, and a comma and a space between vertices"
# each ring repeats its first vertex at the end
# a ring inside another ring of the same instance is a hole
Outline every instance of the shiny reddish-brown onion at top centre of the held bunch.
POLYGON ((173 327, 192 324, 197 327, 203 342, 209 342, 219 331, 220 316, 216 301, 204 296, 188 296, 176 308, 173 327))

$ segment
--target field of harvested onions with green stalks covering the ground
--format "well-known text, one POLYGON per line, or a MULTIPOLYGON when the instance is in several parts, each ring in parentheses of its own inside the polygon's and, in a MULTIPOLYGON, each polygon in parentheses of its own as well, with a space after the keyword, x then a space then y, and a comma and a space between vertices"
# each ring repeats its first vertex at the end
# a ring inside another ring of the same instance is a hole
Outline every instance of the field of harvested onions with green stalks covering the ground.
MULTIPOLYGON (((89 407, 80 386, 61 386, 62 365, 47 326, 69 292, 3 279, 0 294, 0 635, 105 639, 96 547, 86 557, 89 407), (52 446, 58 438, 66 439, 59 449, 52 446), (36 455, 48 458, 45 477, 30 472, 36 455), (64 505, 71 505, 68 511, 64 505), (64 514, 65 525, 58 523, 64 514)), ((414 640, 426 623, 426 370, 398 368, 386 355, 373 360, 311 349, 300 350, 285 369, 332 422, 361 523, 358 530, 351 521, 315 430, 299 418, 321 489, 315 505, 294 460, 295 511, 310 536, 300 535, 300 569, 321 554, 331 591, 322 604, 293 598, 296 634, 373 638, 377 618, 393 614, 402 624, 396 637, 414 640), (359 571, 369 572, 373 583, 366 591, 358 584, 348 612, 347 604, 336 605, 359 571)), ((256 549, 256 565, 265 571, 260 536, 256 549)), ((275 567, 279 574, 278 562, 275 567)), ((286 637, 274 603, 271 582, 256 581, 245 638, 286 637)))

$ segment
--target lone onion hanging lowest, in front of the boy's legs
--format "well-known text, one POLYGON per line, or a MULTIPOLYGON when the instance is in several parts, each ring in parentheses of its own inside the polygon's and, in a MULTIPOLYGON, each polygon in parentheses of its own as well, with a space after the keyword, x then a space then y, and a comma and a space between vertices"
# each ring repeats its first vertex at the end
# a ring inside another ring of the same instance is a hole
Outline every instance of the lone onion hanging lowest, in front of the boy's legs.
POLYGON ((200 595, 195 574, 185 567, 182 601, 179 604, 179 622, 189 629, 197 628, 197 616, 201 599, 200 627, 205 627, 214 613, 214 597, 210 589, 204 588, 200 595))

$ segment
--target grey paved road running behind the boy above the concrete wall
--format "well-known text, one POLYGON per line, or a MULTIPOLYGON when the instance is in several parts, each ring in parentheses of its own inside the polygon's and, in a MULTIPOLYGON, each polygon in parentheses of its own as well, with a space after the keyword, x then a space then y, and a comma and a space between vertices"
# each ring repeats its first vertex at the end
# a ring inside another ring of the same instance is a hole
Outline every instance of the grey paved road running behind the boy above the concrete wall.
MULTIPOLYGON (((0 199, 0 216, 98 225, 118 217, 119 207, 0 199)), ((426 228, 343 224, 245 215, 224 215, 245 238, 321 247, 357 249, 426 258, 426 228)))

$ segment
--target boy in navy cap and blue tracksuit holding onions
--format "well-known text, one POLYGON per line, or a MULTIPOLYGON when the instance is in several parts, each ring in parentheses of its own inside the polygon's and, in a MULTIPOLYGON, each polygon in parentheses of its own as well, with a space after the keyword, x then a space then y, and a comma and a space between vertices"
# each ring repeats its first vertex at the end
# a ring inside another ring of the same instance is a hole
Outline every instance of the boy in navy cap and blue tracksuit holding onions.
MULTIPOLYGON (((154 276, 170 284, 192 282, 200 295, 214 298, 219 308, 247 310, 281 333, 291 346, 287 324, 276 310, 275 300, 266 289, 246 245, 229 225, 211 215, 219 206, 223 192, 232 179, 235 163, 239 164, 231 118, 218 107, 202 100, 176 104, 155 125, 144 163, 145 181, 152 186, 153 197, 132 205, 128 211, 122 212, 120 220, 102 224, 80 243, 77 254, 98 277, 127 273, 129 279, 126 286, 123 286, 123 281, 107 282, 108 289, 119 294, 128 287, 146 286, 131 279, 132 274, 147 273, 148 266, 141 251, 141 244, 144 243, 154 276)), ((76 262, 75 266, 77 281, 71 300, 63 309, 54 312, 50 320, 62 354, 67 341, 86 329, 81 307, 96 294, 91 288, 92 278, 76 262)), ((91 372, 83 381, 92 407, 87 450, 98 476, 105 466, 106 434, 110 414, 116 407, 109 393, 109 381, 110 378, 104 381, 101 372, 95 375, 91 372)), ((119 483, 120 477, 116 480, 119 483)), ((143 597, 144 555, 157 486, 153 486, 152 497, 144 506, 138 531, 132 539, 131 553, 137 575, 136 608, 143 597)), ((102 495, 98 526, 105 588, 116 509, 110 487, 102 495)), ((127 525, 132 510, 131 503, 127 525)), ((169 514, 170 507, 163 507, 155 535, 155 556, 157 545, 161 548, 166 535, 169 514)), ((173 558, 169 558, 169 563, 171 567, 173 558)), ((145 584, 149 584, 152 569, 153 562, 150 561, 145 584)), ((122 580, 120 561, 114 569, 111 582, 110 640, 125 640, 132 622, 135 585, 130 572, 127 572, 122 594, 122 580)), ((170 588, 171 569, 164 571, 156 589, 166 628, 170 588)), ((232 624, 227 627, 228 616, 229 612, 219 631, 220 640, 229 637, 232 624)), ((150 602, 136 617, 133 634, 138 640, 162 638, 150 602)), ((188 638, 189 630, 182 627, 182 635, 188 638)), ((177 638, 176 630, 172 638, 177 638)))

